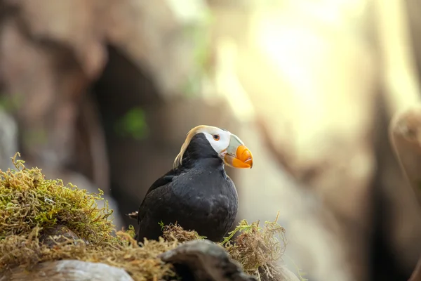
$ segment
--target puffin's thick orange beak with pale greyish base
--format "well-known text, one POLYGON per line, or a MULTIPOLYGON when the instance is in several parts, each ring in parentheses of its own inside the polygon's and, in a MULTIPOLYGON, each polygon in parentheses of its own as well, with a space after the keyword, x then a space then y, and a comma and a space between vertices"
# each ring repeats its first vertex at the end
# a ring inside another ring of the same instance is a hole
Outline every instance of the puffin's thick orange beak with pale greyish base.
POLYGON ((235 135, 231 135, 224 162, 234 168, 252 168, 253 155, 243 142, 235 135))

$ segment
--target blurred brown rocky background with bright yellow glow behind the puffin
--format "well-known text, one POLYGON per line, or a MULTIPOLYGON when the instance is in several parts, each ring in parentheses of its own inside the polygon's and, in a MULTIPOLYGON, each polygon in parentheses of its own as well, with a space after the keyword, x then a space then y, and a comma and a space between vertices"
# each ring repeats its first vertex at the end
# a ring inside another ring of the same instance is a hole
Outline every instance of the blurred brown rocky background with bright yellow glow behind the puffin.
POLYGON ((279 211, 290 270, 407 280, 421 217, 387 126, 420 100, 420 15, 417 0, 0 0, 0 169, 19 151, 101 188, 127 228, 187 131, 220 126, 255 158, 227 168, 238 219, 279 211))

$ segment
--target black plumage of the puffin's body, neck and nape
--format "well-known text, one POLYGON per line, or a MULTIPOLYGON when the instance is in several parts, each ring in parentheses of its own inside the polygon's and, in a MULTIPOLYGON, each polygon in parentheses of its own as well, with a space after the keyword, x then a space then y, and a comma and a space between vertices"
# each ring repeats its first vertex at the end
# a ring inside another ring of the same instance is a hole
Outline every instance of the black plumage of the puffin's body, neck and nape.
POLYGON ((232 228, 238 195, 225 165, 203 133, 196 133, 182 164, 158 178, 147 191, 138 210, 137 239, 157 240, 165 225, 177 222, 218 242, 232 228))

